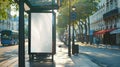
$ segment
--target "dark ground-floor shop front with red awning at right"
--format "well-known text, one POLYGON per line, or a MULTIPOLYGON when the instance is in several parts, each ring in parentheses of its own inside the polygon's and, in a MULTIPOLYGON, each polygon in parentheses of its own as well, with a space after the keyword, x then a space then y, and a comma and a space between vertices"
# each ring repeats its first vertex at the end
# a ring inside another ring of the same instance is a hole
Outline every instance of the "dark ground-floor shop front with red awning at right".
POLYGON ((94 35, 100 38, 101 44, 114 45, 116 44, 116 35, 110 34, 113 30, 115 29, 100 30, 95 32, 94 35))

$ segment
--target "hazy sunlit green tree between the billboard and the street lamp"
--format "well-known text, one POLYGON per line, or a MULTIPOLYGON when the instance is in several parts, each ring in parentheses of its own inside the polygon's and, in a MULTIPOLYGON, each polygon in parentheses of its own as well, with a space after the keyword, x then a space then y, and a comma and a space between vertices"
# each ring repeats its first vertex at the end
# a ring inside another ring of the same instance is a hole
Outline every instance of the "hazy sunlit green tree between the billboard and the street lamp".
MULTIPOLYGON (((66 0, 65 0, 66 3, 66 0)), ((60 7, 59 9, 59 15, 57 17, 58 23, 57 23, 57 31, 59 36, 64 35, 64 31, 67 29, 67 25, 69 23, 69 10, 68 6, 64 5, 60 7)))

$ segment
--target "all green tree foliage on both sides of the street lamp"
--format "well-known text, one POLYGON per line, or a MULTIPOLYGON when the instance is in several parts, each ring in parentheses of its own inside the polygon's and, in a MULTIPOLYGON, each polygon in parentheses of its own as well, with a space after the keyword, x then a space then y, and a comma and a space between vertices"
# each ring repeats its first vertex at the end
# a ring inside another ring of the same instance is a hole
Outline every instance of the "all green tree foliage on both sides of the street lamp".
POLYGON ((88 18, 93 12, 97 10, 98 2, 99 0, 62 0, 62 7, 59 9, 59 15, 57 17, 57 30, 61 31, 59 28, 63 28, 63 30, 66 29, 70 16, 69 9, 71 11, 72 6, 76 7, 76 21, 86 22, 86 18, 88 18))

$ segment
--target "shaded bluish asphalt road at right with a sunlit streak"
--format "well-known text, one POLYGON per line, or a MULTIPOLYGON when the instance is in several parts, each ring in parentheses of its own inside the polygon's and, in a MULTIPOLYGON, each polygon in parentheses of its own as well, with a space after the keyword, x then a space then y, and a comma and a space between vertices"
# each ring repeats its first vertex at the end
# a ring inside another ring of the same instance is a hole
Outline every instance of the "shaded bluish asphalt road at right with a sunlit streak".
POLYGON ((101 67, 120 67, 120 49, 80 46, 79 52, 101 67))

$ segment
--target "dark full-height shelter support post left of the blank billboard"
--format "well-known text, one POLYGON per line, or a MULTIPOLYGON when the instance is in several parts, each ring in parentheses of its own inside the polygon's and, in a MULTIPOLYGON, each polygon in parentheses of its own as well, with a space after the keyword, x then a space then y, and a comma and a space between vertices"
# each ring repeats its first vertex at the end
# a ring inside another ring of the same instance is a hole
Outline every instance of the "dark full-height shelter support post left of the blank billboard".
POLYGON ((24 0, 19 0, 19 67, 25 67, 24 0))

